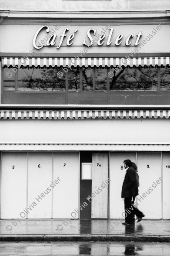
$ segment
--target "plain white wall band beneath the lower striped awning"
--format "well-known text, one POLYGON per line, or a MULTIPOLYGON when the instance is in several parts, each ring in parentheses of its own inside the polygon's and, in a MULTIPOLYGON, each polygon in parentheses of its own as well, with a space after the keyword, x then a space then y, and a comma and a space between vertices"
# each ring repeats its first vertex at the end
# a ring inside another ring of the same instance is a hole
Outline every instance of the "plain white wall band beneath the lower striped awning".
POLYGON ((170 119, 0 120, 3 142, 170 142, 170 119))

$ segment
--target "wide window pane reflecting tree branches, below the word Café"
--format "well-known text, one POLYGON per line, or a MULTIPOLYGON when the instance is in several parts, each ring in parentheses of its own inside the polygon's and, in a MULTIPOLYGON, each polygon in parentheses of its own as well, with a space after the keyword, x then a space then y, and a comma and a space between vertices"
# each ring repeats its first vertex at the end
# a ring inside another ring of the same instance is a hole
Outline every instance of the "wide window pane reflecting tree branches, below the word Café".
POLYGON ((30 74, 25 72, 23 76, 21 73, 21 82, 21 90, 65 90, 65 74, 62 68, 43 68, 40 72, 32 68, 30 74), (57 76, 58 72, 63 75, 61 78, 57 76))

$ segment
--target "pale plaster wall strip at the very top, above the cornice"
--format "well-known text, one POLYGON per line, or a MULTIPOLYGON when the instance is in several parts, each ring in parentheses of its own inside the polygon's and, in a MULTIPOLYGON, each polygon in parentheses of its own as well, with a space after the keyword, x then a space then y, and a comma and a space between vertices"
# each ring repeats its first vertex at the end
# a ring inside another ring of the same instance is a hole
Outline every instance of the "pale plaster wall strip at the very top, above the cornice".
POLYGON ((169 0, 1 0, 0 8, 10 10, 168 10, 169 0))

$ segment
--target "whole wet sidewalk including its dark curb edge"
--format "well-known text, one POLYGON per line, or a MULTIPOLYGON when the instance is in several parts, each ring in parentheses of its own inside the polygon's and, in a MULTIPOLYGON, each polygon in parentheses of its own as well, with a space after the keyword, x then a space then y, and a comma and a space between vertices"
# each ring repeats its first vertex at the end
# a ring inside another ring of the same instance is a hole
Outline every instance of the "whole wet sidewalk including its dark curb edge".
POLYGON ((170 220, 0 220, 0 241, 170 242, 170 220))

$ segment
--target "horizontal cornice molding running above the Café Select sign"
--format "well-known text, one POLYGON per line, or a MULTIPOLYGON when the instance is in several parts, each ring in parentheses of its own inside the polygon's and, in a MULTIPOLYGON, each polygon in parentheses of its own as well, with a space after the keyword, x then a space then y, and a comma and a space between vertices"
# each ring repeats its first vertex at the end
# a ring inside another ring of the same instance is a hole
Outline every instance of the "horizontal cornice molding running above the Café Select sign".
POLYGON ((77 11, 77 12, 45 12, 0 10, 2 24, 23 25, 145 25, 170 24, 170 10, 128 10, 128 11, 77 11), (5 19, 4 19, 5 17, 5 19), (4 19, 4 20, 3 20, 4 19), (3 22, 2 22, 3 21, 3 22))

